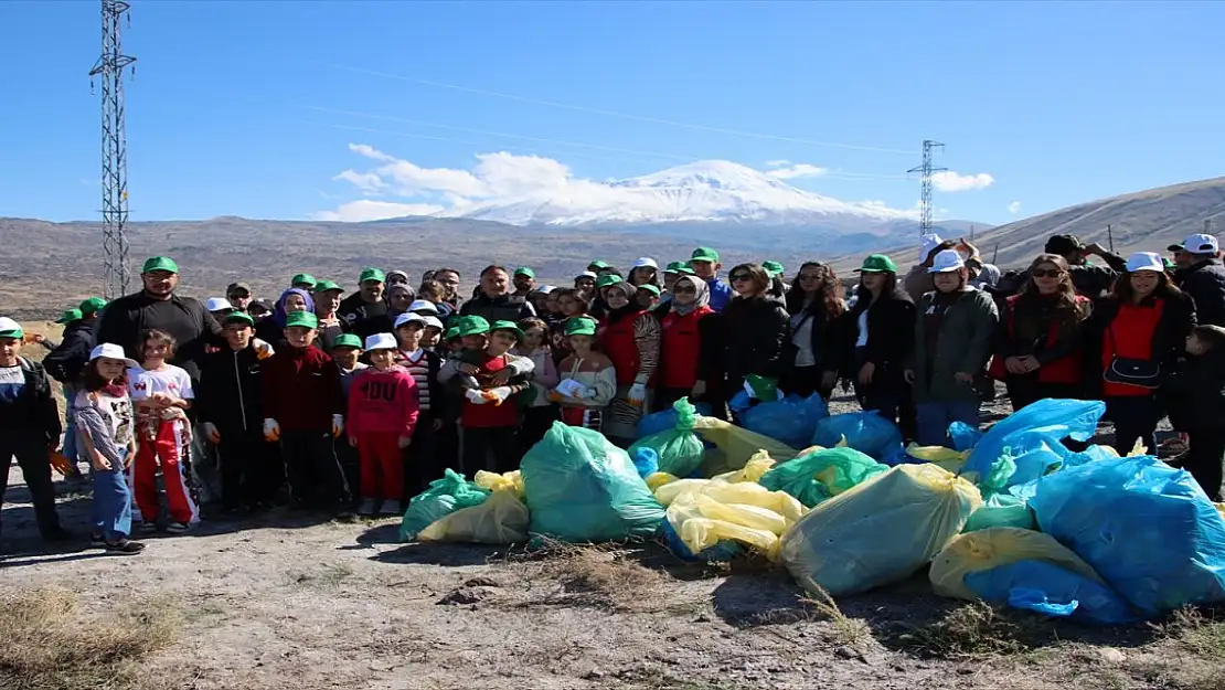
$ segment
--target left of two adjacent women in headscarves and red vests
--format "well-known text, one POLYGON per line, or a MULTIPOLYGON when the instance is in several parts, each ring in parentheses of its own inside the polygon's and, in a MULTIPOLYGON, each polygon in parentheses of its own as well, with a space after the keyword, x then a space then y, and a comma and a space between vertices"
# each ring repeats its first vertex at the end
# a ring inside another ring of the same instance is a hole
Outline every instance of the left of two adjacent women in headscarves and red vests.
POLYGON ((600 351, 616 369, 616 397, 604 419, 604 435, 630 447, 638 419, 650 409, 659 365, 659 320, 636 300, 637 288, 620 281, 601 290, 608 315, 600 324, 600 351))

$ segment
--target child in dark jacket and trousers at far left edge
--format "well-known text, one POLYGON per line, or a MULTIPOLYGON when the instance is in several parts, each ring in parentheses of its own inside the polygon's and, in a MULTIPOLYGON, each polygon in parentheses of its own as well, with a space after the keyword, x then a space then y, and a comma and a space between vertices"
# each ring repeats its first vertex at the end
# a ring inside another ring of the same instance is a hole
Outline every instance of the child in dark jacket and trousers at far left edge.
POLYGON ((55 514, 50 453, 60 446, 60 411, 42 364, 21 357, 26 332, 0 316, 0 505, 9 487, 12 458, 26 478, 38 532, 48 542, 71 536, 55 514))

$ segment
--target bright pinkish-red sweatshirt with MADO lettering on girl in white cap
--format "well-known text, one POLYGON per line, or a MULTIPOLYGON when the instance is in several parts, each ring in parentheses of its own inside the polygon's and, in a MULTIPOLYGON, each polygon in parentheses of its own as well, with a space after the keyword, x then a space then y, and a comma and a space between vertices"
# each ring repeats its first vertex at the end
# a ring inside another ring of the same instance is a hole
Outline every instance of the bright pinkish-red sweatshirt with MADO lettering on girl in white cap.
POLYGON ((412 436, 420 407, 417 381, 408 369, 392 366, 379 371, 371 366, 353 380, 345 425, 350 436, 368 433, 412 436))

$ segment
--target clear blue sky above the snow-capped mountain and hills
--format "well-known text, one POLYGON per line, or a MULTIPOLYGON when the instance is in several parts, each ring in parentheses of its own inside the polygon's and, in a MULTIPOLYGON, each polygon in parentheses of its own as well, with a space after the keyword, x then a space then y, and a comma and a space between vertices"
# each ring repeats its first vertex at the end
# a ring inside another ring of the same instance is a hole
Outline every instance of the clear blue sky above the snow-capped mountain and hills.
MULTIPOLYGON (((930 137, 971 188, 937 207, 991 223, 1225 174, 1220 2, 132 5, 132 219, 446 206, 503 151, 593 180, 785 159, 910 208, 930 137)), ((0 27, 0 216, 96 218, 98 4, 10 0, 0 27)))

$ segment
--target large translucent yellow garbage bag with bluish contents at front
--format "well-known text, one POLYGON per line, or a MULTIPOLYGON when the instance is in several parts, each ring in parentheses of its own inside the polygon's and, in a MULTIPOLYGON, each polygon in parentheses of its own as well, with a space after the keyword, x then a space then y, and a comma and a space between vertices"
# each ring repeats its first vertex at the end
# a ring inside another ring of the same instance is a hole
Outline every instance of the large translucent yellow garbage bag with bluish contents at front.
POLYGON ((780 542, 809 592, 865 592, 909 577, 982 505, 979 489, 935 464, 903 464, 817 505, 780 542))

